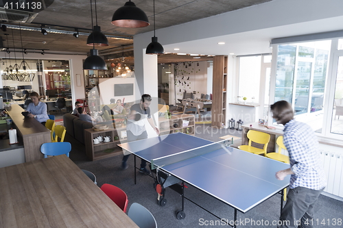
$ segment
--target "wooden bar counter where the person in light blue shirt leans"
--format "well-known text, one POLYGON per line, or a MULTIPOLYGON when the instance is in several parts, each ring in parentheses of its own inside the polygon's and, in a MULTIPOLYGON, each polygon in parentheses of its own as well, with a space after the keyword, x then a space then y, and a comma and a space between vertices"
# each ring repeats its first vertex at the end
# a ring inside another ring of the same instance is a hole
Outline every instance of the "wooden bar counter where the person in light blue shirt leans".
POLYGON ((16 126, 19 142, 23 142, 25 161, 31 162, 42 159, 40 146, 45 142, 51 142, 50 131, 35 118, 25 118, 21 112, 23 108, 19 105, 11 105, 6 110, 16 126))

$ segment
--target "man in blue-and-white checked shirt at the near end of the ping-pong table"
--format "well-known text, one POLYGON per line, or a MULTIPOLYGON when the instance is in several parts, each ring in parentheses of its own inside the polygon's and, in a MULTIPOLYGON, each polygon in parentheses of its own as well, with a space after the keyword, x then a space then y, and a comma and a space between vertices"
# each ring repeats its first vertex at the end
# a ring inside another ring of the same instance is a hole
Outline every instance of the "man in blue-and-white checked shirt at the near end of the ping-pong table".
POLYGON ((276 173, 279 180, 291 175, 287 203, 281 211, 283 223, 278 227, 313 227, 314 205, 327 185, 318 140, 309 125, 294 120, 292 106, 287 101, 278 101, 270 109, 277 123, 285 125, 283 144, 291 166, 276 173))

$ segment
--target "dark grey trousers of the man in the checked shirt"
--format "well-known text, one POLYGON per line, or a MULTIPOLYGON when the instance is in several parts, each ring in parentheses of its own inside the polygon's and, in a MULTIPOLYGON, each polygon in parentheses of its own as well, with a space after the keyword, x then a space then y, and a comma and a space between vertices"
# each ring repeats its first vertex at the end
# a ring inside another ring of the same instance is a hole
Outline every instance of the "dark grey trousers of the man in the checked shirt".
POLYGON ((322 190, 297 187, 289 189, 278 228, 314 227, 314 205, 322 190), (313 222, 312 222, 313 221, 313 222))

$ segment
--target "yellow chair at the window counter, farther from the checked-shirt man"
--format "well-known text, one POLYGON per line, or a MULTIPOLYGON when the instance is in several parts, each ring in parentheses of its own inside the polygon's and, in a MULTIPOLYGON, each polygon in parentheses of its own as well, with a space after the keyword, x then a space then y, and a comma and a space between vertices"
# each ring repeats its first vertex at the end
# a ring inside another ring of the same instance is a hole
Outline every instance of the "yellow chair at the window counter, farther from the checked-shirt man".
POLYGON ((248 151, 250 153, 255 153, 255 154, 263 153, 263 155, 265 155, 267 153, 267 147, 270 141, 270 134, 267 134, 261 131, 249 130, 246 136, 249 139, 248 145, 241 145, 238 147, 238 149, 241 149, 242 151, 248 151), (264 144, 263 149, 252 147, 251 142, 264 144))

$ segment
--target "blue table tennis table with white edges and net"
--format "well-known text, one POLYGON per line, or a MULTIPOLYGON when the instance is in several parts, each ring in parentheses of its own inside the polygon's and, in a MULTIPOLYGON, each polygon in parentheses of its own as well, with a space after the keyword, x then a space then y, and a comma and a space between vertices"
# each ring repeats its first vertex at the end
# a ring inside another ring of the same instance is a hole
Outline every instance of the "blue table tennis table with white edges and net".
MULTIPOLYGON (((179 132, 126 142, 119 144, 119 147, 154 164, 154 160, 160 157, 167 156, 167 160, 175 160, 182 156, 184 151, 206 147, 209 144, 213 142, 179 132)), ((283 207, 283 189, 289 185, 289 177, 279 181, 275 173, 289 168, 289 164, 233 147, 219 148, 169 163, 159 166, 158 170, 163 170, 164 173, 182 181, 178 184, 182 191, 177 190, 182 195, 182 210, 176 214, 178 219, 185 218, 183 203, 185 183, 233 207, 235 221, 237 221, 237 210, 246 213, 277 193, 281 194, 281 208, 283 207)), ((236 227, 236 223, 232 226, 236 227)))

